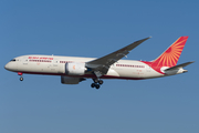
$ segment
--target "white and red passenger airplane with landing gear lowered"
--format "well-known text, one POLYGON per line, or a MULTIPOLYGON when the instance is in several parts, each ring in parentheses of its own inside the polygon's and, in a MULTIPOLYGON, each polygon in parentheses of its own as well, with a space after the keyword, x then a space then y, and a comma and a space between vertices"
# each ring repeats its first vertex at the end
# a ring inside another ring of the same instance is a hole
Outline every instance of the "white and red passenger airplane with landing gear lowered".
POLYGON ((4 65, 4 69, 17 72, 20 75, 20 81, 23 81, 23 73, 61 75, 63 84, 78 84, 86 79, 93 79, 91 86, 100 89, 104 83, 102 79, 163 78, 185 73, 187 70, 184 68, 193 63, 190 61, 177 65, 188 37, 180 37, 153 61, 121 60, 149 38, 135 41, 98 59, 30 54, 12 59, 4 65))

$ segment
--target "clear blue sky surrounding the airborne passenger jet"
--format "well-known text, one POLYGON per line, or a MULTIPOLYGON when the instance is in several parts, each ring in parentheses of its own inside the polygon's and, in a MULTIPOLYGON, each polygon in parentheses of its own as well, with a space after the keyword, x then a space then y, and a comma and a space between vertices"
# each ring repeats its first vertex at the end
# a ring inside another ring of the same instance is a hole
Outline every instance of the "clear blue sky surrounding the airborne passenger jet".
POLYGON ((199 2, 0 1, 1 133, 198 133, 199 2), (178 63, 188 73, 144 80, 92 80, 63 85, 60 76, 4 70, 12 58, 55 54, 100 58, 153 37, 128 60, 153 60, 180 35, 189 35, 178 63))

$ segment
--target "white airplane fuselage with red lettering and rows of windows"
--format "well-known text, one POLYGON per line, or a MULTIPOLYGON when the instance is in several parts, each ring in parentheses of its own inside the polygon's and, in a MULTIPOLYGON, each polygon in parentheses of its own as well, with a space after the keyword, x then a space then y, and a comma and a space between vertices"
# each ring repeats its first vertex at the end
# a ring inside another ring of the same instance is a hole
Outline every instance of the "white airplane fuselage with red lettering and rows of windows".
MULTIPOLYGON (((94 58, 75 58, 75 57, 57 57, 57 55, 22 55, 10 61, 4 68, 13 72, 22 72, 30 74, 50 74, 50 75, 67 75, 65 72, 65 63, 70 62, 88 62, 94 58)), ((164 76, 142 61, 119 60, 111 65, 108 72, 102 79, 127 79, 140 80, 164 76)), ((81 78, 94 78, 93 74, 67 75, 81 78)))

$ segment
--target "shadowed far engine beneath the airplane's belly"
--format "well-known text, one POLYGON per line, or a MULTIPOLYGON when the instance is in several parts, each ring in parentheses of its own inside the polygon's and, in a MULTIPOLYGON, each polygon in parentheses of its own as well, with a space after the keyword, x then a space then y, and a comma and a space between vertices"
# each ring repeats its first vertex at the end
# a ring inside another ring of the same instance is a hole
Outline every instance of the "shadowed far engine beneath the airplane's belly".
POLYGON ((61 75, 61 82, 63 84, 78 84, 80 82, 82 82, 85 79, 83 79, 83 78, 70 78, 70 76, 61 75))

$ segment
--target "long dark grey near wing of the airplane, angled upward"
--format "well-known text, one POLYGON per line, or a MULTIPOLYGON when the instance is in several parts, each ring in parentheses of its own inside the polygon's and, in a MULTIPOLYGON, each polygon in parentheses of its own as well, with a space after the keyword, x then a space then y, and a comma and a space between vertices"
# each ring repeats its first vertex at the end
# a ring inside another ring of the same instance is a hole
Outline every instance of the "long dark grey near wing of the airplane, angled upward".
MULTIPOLYGON (((150 38, 150 37, 149 37, 150 38)), ((121 60, 122 58, 126 57, 129 51, 132 51, 134 48, 136 48, 137 45, 139 45, 142 42, 148 40, 149 38, 146 39, 142 39, 139 41, 136 41, 132 44, 128 44, 125 48, 122 48, 113 53, 109 53, 105 57, 98 58, 96 60, 86 62, 86 68, 90 68, 94 71, 100 72, 102 75, 106 74, 109 66, 112 64, 114 64, 115 62, 117 62, 118 60, 121 60)))

